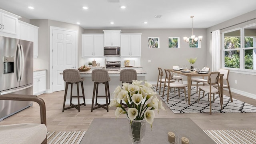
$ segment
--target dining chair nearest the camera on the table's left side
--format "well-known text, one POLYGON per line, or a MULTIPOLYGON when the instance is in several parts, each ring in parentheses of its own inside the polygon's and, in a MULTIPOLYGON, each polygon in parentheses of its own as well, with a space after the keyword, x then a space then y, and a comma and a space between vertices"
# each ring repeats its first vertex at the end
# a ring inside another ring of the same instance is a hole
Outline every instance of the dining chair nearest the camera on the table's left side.
MULTIPOLYGON (((164 72, 166 74, 165 76, 165 81, 164 81, 164 90, 165 90, 165 87, 167 86, 167 102, 169 100, 169 90, 171 88, 178 88, 178 94, 179 94, 179 97, 180 97, 180 88, 184 89, 184 94, 185 94, 185 98, 186 98, 186 102, 187 102, 187 96, 186 96, 186 84, 182 84, 180 82, 175 82, 175 80, 172 79, 172 74, 171 74, 171 71, 170 70, 166 70, 164 69, 164 72)), ((164 90, 163 90, 163 95, 162 97, 164 97, 164 90)), ((175 94, 175 89, 174 89, 174 94, 175 94)))

